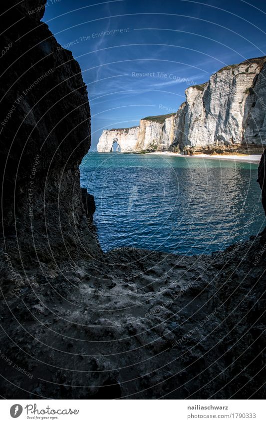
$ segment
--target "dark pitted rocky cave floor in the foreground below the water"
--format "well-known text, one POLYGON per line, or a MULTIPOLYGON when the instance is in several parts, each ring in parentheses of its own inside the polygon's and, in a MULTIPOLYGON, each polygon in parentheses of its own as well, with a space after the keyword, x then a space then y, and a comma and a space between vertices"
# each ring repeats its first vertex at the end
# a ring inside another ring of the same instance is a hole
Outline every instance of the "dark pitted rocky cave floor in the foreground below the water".
POLYGON ((0 395, 264 398, 265 246, 260 236, 212 256, 125 248, 25 268, 19 292, 3 259, 0 395))

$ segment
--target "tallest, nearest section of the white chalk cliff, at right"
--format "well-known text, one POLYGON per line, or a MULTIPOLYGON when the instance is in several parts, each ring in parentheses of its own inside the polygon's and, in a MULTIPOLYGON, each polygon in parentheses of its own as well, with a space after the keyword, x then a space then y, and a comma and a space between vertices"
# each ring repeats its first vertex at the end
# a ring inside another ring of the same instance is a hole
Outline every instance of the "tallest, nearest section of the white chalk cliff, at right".
MULTIPOLYGON (((266 111, 259 98, 263 92, 266 58, 227 66, 202 85, 186 90, 182 107, 183 133, 176 145, 194 151, 263 151, 266 111), (255 120, 256 117, 256 120, 255 120)), ((181 113, 181 114, 182 114, 181 113)))

